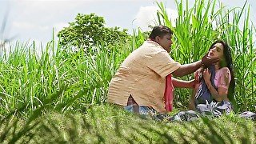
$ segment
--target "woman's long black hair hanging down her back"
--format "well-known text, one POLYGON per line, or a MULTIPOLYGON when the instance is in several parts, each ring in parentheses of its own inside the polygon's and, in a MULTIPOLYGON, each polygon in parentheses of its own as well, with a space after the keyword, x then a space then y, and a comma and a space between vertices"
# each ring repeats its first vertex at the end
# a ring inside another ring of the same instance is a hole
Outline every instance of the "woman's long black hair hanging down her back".
MULTIPOLYGON (((215 42, 210 46, 210 49, 212 49, 213 46, 214 46, 216 43, 221 43, 222 46, 223 46, 223 54, 224 54, 224 58, 225 58, 225 61, 226 61, 226 66, 229 68, 230 74, 231 74, 231 81, 230 81, 230 86, 229 86, 227 98, 229 98, 230 102, 234 102, 234 86, 235 86, 235 82, 234 82, 233 60, 232 60, 232 55, 231 55, 230 46, 228 46, 226 42, 224 42, 224 41, 222 41, 222 40, 218 40, 218 41, 215 41, 215 42)), ((209 50, 210 50, 210 49, 209 49, 209 50)), ((235 103, 234 103, 234 104, 235 104, 235 103)))

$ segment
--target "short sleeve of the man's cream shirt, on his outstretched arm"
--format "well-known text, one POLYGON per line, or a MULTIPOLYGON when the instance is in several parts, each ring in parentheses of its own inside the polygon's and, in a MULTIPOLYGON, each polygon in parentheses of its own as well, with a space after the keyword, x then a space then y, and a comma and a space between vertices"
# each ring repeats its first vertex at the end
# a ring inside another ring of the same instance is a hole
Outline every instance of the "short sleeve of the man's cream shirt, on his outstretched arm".
POLYGON ((154 70, 162 78, 165 78, 168 74, 173 73, 180 66, 179 62, 175 62, 166 51, 160 51, 157 54, 148 55, 148 67, 154 70))

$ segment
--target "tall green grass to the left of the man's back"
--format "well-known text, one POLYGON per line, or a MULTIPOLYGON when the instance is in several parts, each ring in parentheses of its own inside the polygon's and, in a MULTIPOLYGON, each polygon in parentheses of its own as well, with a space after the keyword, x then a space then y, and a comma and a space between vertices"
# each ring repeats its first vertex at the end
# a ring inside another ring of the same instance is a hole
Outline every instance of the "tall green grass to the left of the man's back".
POLYGON ((30 114, 63 87, 66 89, 52 102, 53 109, 70 102, 78 110, 105 103, 110 79, 131 51, 130 46, 119 46, 98 45, 85 53, 61 50, 61 46, 50 42, 38 55, 35 44, 17 42, 0 59, 0 114, 24 105, 24 114, 30 114))

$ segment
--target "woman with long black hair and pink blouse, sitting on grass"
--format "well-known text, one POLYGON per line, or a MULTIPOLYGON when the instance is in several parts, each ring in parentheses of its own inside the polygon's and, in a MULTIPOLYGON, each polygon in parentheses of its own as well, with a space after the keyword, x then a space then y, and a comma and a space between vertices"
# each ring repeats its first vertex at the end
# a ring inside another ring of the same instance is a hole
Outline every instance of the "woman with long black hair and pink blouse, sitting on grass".
MULTIPOLYGON (((195 94, 192 94, 189 109, 195 110, 200 104, 219 102, 232 110, 234 100, 234 72, 230 47, 223 41, 216 41, 210 46, 210 58, 219 58, 213 66, 202 67, 195 72, 195 79, 200 83, 195 85, 195 94)), ((218 106, 219 106, 218 105, 218 106)))

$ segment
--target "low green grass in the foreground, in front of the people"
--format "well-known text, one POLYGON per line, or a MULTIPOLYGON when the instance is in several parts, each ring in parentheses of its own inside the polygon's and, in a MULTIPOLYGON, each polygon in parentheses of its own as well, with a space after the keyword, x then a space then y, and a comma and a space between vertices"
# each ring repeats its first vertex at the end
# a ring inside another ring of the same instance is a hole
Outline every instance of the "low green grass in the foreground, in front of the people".
MULTIPOLYGON (((86 114, 58 111, 28 120, 2 118, 1 143, 252 143, 255 122, 235 114, 194 122, 156 122, 118 106, 91 106, 86 114), (226 123, 229 123, 226 125, 226 123)), ((34 117, 37 116, 37 117, 34 117)))

